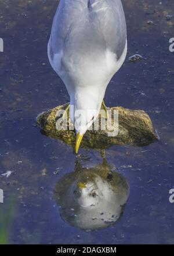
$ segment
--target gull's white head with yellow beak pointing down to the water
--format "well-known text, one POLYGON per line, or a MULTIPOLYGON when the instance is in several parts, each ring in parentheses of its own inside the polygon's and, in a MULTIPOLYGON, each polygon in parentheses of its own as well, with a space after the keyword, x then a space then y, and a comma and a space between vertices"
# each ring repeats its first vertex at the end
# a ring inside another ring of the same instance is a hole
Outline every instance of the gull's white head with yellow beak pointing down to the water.
POLYGON ((71 105, 71 120, 74 122, 76 131, 75 153, 78 153, 79 146, 85 132, 95 122, 99 115, 103 98, 92 92, 78 92, 71 105))

